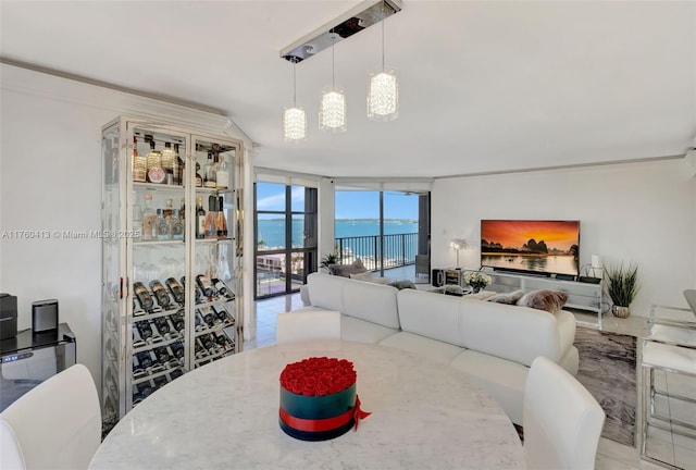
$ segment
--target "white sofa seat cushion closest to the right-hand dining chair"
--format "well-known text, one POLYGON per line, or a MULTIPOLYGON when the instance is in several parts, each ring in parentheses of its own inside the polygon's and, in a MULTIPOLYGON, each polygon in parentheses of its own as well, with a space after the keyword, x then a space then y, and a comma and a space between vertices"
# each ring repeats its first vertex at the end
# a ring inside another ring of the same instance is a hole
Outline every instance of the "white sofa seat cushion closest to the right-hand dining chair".
POLYGON ((522 425, 522 401, 529 368, 518 362, 464 349, 450 364, 488 392, 515 424, 522 425))

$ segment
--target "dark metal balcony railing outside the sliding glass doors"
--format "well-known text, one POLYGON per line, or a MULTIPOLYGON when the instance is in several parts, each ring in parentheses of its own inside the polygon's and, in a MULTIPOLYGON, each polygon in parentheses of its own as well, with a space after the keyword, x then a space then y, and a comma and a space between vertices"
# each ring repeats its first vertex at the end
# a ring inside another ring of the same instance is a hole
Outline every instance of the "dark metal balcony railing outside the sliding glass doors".
POLYGON ((336 238, 336 252, 341 263, 360 258, 371 271, 415 263, 418 233, 384 235, 384 244, 380 239, 380 235, 336 238), (380 265, 381 260, 384 260, 384 265, 380 265))

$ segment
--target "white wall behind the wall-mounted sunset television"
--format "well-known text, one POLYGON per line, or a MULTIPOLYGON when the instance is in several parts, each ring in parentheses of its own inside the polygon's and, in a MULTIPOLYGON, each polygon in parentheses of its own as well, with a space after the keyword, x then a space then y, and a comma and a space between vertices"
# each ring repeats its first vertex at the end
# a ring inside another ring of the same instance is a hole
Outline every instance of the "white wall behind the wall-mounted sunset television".
POLYGON ((638 264, 632 314, 651 304, 685 307, 696 287, 696 178, 682 160, 436 180, 432 265, 453 267, 453 237, 465 237, 461 265, 478 269, 482 219, 581 221, 581 265, 592 255, 638 264))

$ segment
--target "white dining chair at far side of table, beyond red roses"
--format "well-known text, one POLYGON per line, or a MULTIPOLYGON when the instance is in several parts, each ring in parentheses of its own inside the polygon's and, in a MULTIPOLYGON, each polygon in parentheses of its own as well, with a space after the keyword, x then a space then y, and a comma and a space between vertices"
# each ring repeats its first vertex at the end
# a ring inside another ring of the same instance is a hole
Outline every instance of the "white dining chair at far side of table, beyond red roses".
POLYGON ((278 314, 275 330, 277 344, 312 339, 340 339, 340 312, 296 310, 278 314))

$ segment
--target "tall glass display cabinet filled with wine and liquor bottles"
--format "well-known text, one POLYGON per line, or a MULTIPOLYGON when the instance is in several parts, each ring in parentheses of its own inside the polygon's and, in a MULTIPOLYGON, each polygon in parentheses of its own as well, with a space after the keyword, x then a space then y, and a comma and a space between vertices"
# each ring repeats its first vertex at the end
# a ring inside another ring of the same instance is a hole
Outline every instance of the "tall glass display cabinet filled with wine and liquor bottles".
POLYGON ((240 351, 243 143, 144 120, 102 128, 104 429, 240 351))

